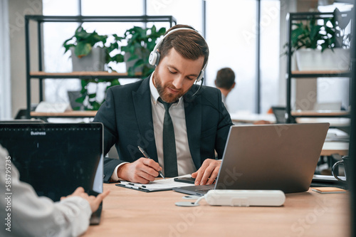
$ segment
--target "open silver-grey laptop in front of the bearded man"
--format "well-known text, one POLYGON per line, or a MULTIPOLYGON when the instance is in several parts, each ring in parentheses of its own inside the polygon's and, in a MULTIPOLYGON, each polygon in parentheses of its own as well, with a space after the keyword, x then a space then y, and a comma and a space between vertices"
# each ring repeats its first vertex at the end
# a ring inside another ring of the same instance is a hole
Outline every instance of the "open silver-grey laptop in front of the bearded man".
POLYGON ((202 196, 210 189, 307 191, 329 123, 231 126, 216 184, 174 188, 202 196))

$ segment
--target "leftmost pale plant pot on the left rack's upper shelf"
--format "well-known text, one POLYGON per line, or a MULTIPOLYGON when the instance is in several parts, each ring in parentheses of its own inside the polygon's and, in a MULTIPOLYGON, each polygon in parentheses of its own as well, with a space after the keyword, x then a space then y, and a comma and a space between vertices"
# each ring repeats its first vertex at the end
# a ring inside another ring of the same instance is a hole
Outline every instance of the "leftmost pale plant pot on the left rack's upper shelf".
POLYGON ((92 48, 92 51, 83 58, 75 56, 74 48, 70 48, 72 53, 73 72, 78 71, 103 71, 105 68, 105 49, 92 48))

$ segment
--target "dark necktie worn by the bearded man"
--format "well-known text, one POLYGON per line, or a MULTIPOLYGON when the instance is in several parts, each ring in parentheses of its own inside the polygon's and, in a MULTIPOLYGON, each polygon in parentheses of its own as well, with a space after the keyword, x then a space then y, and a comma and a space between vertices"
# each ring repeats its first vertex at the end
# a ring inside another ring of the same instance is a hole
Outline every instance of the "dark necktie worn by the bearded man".
POLYGON ((164 176, 165 177, 177 177, 177 152, 176 152, 176 139, 174 137, 174 128, 169 115, 169 107, 172 103, 164 102, 161 98, 158 98, 166 110, 164 112, 163 120, 163 160, 164 160, 164 176))

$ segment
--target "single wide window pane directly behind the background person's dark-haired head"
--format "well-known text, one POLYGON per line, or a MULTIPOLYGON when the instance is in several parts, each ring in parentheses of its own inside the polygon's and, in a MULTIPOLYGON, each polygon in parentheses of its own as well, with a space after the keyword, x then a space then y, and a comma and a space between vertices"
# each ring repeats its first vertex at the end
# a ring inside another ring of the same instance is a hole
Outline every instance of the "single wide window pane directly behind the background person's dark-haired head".
POLYGON ((254 110, 256 100, 256 1, 206 1, 206 41, 210 58, 206 84, 229 67, 236 87, 226 98, 229 112, 254 110))

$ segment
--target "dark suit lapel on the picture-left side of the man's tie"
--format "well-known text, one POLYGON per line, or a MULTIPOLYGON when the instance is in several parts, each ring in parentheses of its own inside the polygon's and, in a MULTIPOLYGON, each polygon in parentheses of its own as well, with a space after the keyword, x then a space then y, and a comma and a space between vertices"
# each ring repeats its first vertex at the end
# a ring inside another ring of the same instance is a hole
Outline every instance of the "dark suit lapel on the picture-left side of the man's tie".
POLYGON ((142 138, 141 141, 137 141, 137 144, 145 149, 147 154, 149 154, 155 162, 158 162, 152 121, 150 77, 142 81, 137 91, 132 92, 132 100, 135 107, 137 125, 142 138))

